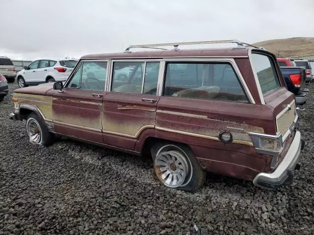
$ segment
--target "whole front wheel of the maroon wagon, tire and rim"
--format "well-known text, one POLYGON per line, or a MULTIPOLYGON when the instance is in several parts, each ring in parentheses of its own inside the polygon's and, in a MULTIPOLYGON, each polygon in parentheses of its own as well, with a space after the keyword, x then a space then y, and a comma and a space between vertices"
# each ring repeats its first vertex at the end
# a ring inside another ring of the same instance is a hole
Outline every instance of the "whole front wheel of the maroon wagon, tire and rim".
POLYGON ((26 131, 33 144, 50 146, 53 143, 53 134, 48 131, 44 120, 35 113, 27 116, 26 131))

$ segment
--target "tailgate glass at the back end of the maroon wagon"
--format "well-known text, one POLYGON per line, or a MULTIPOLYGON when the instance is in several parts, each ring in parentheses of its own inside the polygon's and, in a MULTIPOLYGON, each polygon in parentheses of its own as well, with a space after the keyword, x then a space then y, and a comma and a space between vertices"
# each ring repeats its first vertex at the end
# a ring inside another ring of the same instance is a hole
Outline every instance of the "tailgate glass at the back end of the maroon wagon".
POLYGON ((280 88, 272 59, 267 55, 252 53, 252 60, 253 69, 256 71, 261 85, 262 94, 280 88))

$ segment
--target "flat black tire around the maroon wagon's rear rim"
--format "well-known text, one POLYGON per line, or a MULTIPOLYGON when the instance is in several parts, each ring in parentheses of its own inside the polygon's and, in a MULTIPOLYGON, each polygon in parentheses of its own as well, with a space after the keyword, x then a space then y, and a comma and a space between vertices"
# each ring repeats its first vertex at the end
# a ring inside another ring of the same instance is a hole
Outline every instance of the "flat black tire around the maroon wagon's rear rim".
POLYGON ((180 143, 160 142, 153 145, 151 148, 151 155, 154 161, 154 174, 161 184, 165 185, 166 187, 194 192, 203 186, 206 179, 206 171, 201 167, 200 163, 194 157, 191 149, 188 146, 180 143), (188 163, 188 174, 186 175, 182 185, 178 187, 169 187, 162 181, 160 167, 158 168, 155 161, 157 156, 161 153, 169 151, 171 152, 173 150, 177 153, 180 152, 182 156, 186 158, 186 162, 188 163))

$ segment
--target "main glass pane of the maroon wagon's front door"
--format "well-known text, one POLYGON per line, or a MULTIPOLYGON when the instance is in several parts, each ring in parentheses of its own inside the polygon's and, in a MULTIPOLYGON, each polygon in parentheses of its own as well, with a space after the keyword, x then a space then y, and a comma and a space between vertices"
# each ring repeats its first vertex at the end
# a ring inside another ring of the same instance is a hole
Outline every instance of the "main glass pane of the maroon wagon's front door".
POLYGON ((83 62, 80 89, 105 91, 107 62, 83 62))

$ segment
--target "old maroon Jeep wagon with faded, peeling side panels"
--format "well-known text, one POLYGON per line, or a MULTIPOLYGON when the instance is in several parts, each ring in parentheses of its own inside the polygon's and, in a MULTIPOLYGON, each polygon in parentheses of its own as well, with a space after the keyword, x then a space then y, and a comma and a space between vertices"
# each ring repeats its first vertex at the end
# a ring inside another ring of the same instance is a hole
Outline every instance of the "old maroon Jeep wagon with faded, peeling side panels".
POLYGON ((14 92, 29 140, 54 135, 145 154, 169 188, 194 191, 206 171, 278 188, 293 179, 304 141, 276 57, 237 40, 130 46, 80 58, 63 84, 14 92), (183 44, 234 42, 224 49, 183 44), (174 49, 131 52, 132 47, 174 49))

